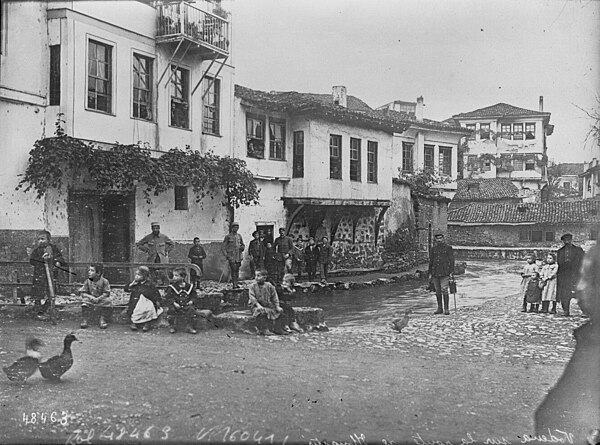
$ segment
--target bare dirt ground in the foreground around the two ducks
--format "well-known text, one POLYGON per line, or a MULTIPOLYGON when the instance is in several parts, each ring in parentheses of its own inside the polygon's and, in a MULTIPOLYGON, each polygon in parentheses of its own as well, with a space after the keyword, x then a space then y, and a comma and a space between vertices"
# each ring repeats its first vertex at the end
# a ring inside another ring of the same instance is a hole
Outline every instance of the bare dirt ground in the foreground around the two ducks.
POLYGON ((24 320, 0 325, 0 363, 29 335, 54 355, 69 330, 81 342, 62 383, 0 376, 0 442, 523 443, 565 366, 307 341, 335 332, 273 341, 24 320))

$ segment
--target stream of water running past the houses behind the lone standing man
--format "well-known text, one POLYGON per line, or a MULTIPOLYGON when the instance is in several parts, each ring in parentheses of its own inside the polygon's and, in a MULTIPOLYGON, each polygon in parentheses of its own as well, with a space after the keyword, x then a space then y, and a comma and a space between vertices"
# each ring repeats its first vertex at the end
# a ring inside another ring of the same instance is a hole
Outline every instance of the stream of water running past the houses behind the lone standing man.
MULTIPOLYGON (((524 261, 514 260, 467 261, 466 273, 456 276, 456 306, 473 306, 488 299, 519 293, 523 264, 524 261)), ((435 311, 435 293, 426 291, 426 284, 426 281, 407 281, 352 291, 319 293, 296 299, 294 306, 322 308, 325 322, 330 327, 360 326, 369 321, 388 323, 402 316, 407 308, 421 315, 435 311)), ((452 295, 450 308, 454 310, 452 295)))

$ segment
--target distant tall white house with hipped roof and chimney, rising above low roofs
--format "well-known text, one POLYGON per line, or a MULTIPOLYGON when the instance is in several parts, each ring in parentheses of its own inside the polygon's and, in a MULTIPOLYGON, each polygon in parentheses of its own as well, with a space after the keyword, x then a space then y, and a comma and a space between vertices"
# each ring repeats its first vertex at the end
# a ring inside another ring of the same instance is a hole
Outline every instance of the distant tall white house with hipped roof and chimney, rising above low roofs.
POLYGON ((508 178, 528 201, 539 201, 547 184, 546 138, 554 130, 550 113, 498 103, 449 119, 471 134, 461 146, 464 178, 508 178))

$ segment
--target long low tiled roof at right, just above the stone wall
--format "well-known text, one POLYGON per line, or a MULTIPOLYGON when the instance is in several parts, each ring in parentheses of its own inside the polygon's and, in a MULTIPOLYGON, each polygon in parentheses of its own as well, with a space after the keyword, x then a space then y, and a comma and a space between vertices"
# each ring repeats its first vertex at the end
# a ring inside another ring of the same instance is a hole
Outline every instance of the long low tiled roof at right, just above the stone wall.
POLYGON ((600 223, 600 201, 556 201, 536 204, 473 203, 448 212, 448 223, 455 225, 600 223))

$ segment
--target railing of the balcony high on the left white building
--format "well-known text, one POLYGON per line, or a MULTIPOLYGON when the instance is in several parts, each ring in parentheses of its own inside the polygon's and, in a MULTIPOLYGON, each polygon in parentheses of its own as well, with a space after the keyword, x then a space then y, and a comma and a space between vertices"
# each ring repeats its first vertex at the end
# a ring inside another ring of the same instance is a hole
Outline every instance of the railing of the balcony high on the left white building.
POLYGON ((221 53, 229 53, 230 24, 226 19, 185 2, 159 5, 157 10, 157 38, 187 37, 221 53))

